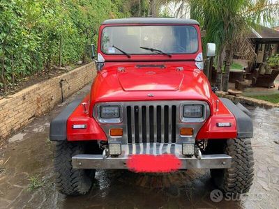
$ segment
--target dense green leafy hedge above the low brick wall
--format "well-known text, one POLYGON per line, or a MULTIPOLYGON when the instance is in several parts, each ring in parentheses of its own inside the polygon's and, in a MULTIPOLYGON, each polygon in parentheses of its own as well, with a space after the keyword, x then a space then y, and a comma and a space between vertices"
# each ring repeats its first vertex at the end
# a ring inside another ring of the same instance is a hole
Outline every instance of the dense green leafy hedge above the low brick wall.
POLYGON ((52 65, 90 57, 105 19, 128 16, 125 0, 1 0, 0 87, 52 65))

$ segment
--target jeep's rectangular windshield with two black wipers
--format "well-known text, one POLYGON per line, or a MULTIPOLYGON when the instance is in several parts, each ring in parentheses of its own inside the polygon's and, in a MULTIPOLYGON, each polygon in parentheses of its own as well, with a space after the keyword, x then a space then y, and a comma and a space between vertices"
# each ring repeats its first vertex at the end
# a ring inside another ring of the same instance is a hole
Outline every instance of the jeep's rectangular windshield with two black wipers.
POLYGON ((105 54, 161 54, 158 50, 193 54, 198 49, 197 40, 194 26, 107 26, 103 29, 101 50, 105 54))

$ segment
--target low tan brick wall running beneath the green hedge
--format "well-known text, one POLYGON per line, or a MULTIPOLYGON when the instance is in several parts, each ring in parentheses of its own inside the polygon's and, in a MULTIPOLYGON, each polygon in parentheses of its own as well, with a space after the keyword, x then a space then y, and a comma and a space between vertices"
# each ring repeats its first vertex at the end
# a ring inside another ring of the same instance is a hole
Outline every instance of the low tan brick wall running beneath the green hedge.
POLYGON ((89 63, 1 99, 0 141, 61 102, 61 79, 65 79, 63 95, 66 98, 92 82, 95 74, 95 64, 89 63))

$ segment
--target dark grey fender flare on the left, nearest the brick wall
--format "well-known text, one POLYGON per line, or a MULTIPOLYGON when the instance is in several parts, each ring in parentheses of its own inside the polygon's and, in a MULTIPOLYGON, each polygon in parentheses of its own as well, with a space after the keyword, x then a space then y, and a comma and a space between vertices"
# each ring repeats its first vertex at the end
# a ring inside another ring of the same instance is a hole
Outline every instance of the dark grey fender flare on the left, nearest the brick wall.
POLYGON ((67 121, 69 116, 75 111, 82 99, 73 100, 68 106, 61 111, 50 123, 50 141, 67 140, 67 121))

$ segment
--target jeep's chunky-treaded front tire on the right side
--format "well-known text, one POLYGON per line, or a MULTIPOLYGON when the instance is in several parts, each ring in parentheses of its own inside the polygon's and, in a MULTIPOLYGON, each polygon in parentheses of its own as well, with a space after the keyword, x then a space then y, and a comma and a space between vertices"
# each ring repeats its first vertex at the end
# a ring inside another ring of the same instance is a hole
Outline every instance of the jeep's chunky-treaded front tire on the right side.
POLYGON ((243 194, 248 192, 254 178, 251 139, 227 139, 225 143, 221 142, 219 145, 216 142, 211 144, 210 150, 216 150, 216 146, 220 148, 223 144, 222 153, 232 157, 232 167, 229 169, 211 169, 213 182, 225 193, 243 194))

